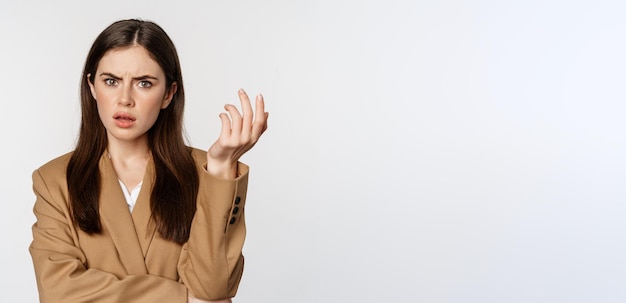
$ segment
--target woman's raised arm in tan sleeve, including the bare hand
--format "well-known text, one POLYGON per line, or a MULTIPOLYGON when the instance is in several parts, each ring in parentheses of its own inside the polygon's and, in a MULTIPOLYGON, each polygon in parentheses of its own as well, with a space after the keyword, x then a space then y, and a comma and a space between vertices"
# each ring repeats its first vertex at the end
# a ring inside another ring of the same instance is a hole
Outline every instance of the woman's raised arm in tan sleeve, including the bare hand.
MULTIPOLYGON (((179 261, 183 283, 204 300, 234 297, 243 273, 248 167, 239 158, 267 129, 268 113, 261 95, 256 98, 255 112, 243 89, 239 100, 242 113, 234 105, 225 106, 228 114, 220 114, 220 136, 204 155, 196 214, 179 261)), ((198 158, 197 162, 202 161, 198 158)))

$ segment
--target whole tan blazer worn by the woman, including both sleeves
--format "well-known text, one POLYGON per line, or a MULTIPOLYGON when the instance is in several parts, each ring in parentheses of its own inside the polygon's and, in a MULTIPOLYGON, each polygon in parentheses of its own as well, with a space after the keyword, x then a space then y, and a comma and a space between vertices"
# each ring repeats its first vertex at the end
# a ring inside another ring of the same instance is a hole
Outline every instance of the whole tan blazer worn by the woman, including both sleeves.
POLYGON ((248 167, 221 180, 206 172, 206 152, 193 149, 200 175, 197 210, 184 245, 159 237, 150 219, 154 164, 149 163, 132 213, 111 160, 100 159, 102 233, 70 219, 66 167, 70 154, 33 172, 36 195, 30 253, 41 302, 187 302, 230 298, 243 272, 248 167), (204 164, 204 165, 203 165, 204 164))

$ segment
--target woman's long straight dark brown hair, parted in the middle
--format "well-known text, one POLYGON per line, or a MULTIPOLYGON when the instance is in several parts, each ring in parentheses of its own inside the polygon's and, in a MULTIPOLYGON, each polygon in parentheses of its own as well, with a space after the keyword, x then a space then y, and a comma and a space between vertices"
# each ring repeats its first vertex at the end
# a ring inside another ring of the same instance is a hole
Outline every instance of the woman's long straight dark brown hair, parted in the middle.
POLYGON ((102 231, 98 164, 108 140, 89 82, 93 83, 98 63, 107 51, 132 45, 143 46, 161 66, 165 72, 166 87, 170 88, 173 83, 177 85, 170 105, 161 110, 148 131, 148 144, 156 171, 150 208, 159 235, 182 244, 189 238, 191 220, 196 211, 199 177, 183 137, 185 90, 178 54, 165 31, 150 21, 129 19, 114 22, 98 35, 87 55, 80 82, 82 121, 76 149, 67 166, 72 220, 86 233, 102 231))

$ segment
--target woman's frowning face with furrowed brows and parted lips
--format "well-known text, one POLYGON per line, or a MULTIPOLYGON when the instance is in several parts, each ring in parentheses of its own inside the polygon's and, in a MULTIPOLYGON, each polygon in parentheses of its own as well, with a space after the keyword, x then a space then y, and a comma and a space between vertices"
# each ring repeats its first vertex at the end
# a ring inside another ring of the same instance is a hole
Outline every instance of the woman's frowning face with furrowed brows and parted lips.
POLYGON ((163 69, 142 46, 107 51, 89 86, 109 143, 147 142, 148 130, 176 92, 176 83, 166 87, 163 69))

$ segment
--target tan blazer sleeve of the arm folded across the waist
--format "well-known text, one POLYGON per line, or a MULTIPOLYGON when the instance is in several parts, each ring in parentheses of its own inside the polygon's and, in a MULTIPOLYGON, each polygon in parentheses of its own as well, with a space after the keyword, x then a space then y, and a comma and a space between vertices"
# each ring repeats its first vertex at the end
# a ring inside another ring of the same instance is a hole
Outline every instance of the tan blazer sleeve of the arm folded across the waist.
POLYGON ((148 274, 118 277, 87 268, 58 183, 46 183, 39 170, 33 173, 37 221, 29 250, 40 302, 187 302, 187 289, 178 281, 148 274))

